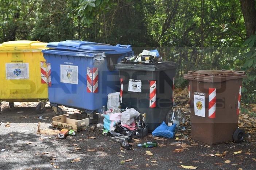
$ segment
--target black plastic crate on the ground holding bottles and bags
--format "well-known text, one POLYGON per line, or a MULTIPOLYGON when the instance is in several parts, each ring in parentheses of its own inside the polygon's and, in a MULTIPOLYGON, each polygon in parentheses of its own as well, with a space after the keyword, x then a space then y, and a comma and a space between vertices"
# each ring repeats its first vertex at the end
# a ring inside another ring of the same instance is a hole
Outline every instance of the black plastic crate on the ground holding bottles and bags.
POLYGON ((120 126, 116 126, 116 131, 124 135, 129 135, 132 138, 142 139, 143 137, 148 135, 148 125, 138 130, 125 130, 121 129, 120 126))

